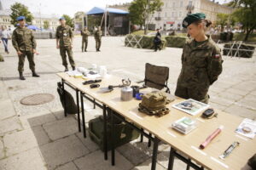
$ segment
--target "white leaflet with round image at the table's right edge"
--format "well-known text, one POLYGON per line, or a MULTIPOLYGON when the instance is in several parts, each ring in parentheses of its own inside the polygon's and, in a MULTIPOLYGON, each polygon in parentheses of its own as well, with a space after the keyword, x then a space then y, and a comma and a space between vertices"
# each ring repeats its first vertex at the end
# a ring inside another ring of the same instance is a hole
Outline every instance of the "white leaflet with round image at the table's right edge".
POLYGON ((236 128, 236 133, 253 139, 256 133, 256 121, 247 118, 243 119, 240 125, 236 128))

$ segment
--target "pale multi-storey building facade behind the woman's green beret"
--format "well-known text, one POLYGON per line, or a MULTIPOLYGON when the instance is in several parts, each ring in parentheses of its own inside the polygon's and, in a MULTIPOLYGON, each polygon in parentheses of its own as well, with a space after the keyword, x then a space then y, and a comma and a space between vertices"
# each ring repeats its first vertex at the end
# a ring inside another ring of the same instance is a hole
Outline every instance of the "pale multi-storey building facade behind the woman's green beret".
POLYGON ((181 30, 182 21, 191 13, 204 13, 207 20, 216 22, 217 14, 231 14, 233 8, 215 3, 214 0, 162 0, 164 5, 148 19, 149 25, 163 30, 181 30))

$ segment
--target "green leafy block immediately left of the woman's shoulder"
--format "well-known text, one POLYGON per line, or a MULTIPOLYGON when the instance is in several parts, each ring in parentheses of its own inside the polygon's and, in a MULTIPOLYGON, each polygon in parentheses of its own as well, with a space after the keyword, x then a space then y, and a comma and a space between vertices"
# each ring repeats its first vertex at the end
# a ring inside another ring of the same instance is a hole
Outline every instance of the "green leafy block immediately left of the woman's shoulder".
POLYGON ((166 36, 166 47, 183 48, 188 39, 188 37, 183 36, 166 36))

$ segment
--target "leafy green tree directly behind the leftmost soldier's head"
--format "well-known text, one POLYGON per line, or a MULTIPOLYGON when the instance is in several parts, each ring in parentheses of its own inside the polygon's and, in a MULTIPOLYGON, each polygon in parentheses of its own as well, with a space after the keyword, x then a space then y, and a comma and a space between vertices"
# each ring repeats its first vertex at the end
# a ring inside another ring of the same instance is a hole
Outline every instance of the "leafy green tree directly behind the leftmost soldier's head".
POLYGON ((18 16, 25 16, 26 17, 26 22, 27 23, 32 23, 32 20, 34 19, 31 12, 28 10, 28 8, 23 5, 22 3, 15 3, 11 5, 11 10, 12 13, 9 15, 11 17, 11 24, 16 26, 17 22, 17 17, 18 16))

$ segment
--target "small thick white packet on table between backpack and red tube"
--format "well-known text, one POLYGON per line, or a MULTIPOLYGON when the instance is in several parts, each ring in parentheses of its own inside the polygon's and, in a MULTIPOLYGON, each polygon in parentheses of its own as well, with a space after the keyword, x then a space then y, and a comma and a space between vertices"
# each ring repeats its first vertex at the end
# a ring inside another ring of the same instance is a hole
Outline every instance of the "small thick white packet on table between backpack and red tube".
POLYGON ((194 119, 183 116, 183 118, 178 119, 176 122, 172 123, 172 128, 181 133, 187 134, 194 130, 195 127, 197 127, 197 124, 198 123, 194 119))

